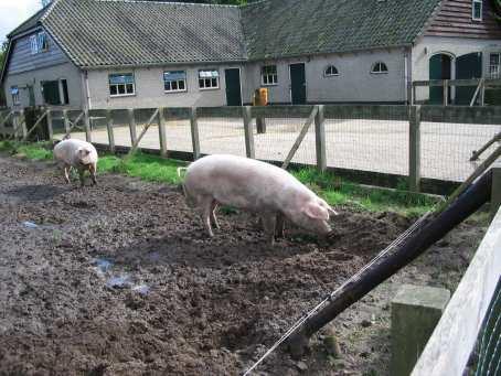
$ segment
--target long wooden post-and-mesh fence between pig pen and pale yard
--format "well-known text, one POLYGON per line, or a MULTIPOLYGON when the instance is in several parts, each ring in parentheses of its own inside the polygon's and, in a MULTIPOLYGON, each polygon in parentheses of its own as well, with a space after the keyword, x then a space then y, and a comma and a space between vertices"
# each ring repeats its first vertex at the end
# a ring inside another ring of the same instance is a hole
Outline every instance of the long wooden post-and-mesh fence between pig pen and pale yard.
MULTIPOLYGON (((412 190, 434 193, 447 193, 444 189, 468 176, 481 163, 470 162, 472 153, 501 132, 501 107, 46 108, 43 114, 51 139, 71 135, 111 150, 135 147, 192 159, 247 155, 333 170, 375 185, 406 181, 412 190)), ((23 111, 0 112, 4 137, 24 138, 32 126, 23 111)))

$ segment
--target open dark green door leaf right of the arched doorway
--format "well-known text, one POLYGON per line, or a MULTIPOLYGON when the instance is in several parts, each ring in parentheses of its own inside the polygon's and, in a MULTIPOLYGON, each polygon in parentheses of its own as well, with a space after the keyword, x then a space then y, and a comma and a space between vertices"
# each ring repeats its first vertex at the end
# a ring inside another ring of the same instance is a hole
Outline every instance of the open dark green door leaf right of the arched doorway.
MULTIPOLYGON (((456 58, 456 78, 471 79, 482 77, 482 53, 473 52, 456 58)), ((456 105, 469 106, 473 98, 476 86, 456 88, 456 105)))

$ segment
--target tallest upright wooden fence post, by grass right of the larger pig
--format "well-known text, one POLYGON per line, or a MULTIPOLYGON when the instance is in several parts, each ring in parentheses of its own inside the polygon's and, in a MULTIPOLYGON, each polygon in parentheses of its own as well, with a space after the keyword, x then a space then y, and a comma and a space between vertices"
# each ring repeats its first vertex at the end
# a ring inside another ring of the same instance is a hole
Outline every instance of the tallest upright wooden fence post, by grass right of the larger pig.
POLYGON ((409 107, 409 161, 408 186, 413 192, 420 190, 420 106, 409 107))

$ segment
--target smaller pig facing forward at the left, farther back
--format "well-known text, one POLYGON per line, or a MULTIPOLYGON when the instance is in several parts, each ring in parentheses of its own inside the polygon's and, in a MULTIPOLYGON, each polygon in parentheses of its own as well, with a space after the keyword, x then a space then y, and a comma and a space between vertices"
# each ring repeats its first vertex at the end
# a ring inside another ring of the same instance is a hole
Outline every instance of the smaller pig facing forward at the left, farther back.
POLYGON ((92 143, 82 140, 68 139, 54 147, 54 159, 64 169, 64 179, 70 183, 70 169, 78 171, 82 186, 85 185, 84 173, 88 171, 93 185, 97 184, 97 151, 92 143))

